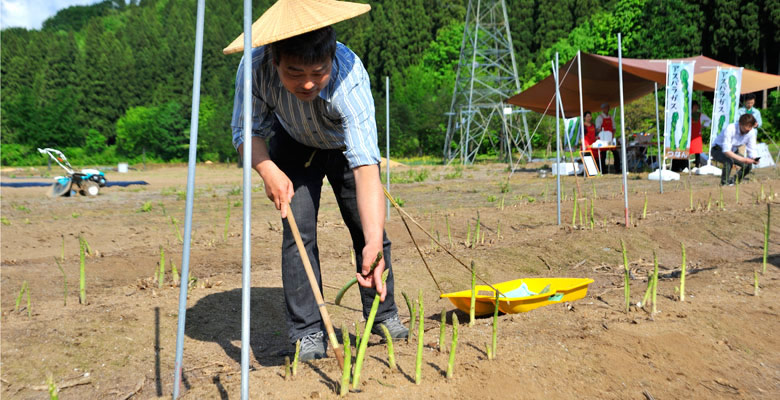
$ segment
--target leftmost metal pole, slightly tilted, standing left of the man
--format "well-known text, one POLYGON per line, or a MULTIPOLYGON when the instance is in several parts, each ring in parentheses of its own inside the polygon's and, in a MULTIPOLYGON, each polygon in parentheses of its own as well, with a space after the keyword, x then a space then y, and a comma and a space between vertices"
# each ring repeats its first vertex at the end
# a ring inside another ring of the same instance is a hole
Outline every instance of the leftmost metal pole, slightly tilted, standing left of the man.
POLYGON ((190 113, 190 151, 187 163, 187 199, 184 211, 184 243, 181 251, 179 279, 179 314, 176 329, 176 361, 173 372, 173 398, 179 397, 184 355, 184 323, 187 318, 187 283, 190 276, 190 241, 192 240, 192 202, 195 197, 195 161, 198 151, 198 114, 200 111, 200 71, 203 59, 203 14, 206 0, 198 0, 195 24, 195 66, 192 76, 192 111, 190 113))

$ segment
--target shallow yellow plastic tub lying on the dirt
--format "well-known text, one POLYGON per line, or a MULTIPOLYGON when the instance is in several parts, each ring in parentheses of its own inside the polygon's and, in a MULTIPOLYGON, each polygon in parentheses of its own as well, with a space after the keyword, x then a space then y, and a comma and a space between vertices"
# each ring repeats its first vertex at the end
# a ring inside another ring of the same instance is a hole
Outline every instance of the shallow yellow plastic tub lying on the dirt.
MULTIPOLYGON (((528 290, 539 293, 524 297, 504 297, 499 300, 498 309, 505 314, 515 314, 531 311, 549 304, 564 301, 579 300, 588 293, 588 285, 593 279, 587 278, 528 278, 515 279, 493 285, 501 293, 511 293, 525 283, 528 290), (549 287, 548 287, 549 285, 549 287), (547 288, 545 293, 541 293, 547 288)), ((495 310, 496 294, 490 286, 477 285, 474 313, 476 315, 492 314, 495 310)), ((455 307, 464 312, 469 312, 471 304, 471 290, 445 293, 441 298, 448 298, 455 307)))

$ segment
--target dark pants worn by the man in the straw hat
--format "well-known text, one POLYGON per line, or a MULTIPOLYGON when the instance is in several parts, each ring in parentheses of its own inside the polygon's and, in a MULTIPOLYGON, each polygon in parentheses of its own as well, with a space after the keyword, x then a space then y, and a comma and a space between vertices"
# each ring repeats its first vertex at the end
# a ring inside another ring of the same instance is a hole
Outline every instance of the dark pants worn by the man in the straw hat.
MULTIPOLYGON (((271 159, 293 183, 295 195, 290 202, 290 209, 295 216, 301 240, 309 255, 314 275, 317 277, 320 292, 322 292, 322 277, 320 276, 320 258, 317 247, 317 216, 320 208, 322 180, 328 177, 336 196, 336 202, 341 210, 341 216, 352 236, 352 247, 355 250, 357 271, 361 271, 363 262, 363 227, 358 214, 355 175, 349 168, 346 157, 341 150, 321 150, 296 142, 281 128, 278 123, 274 127, 275 134, 269 143, 271 159)), ((298 253, 290 225, 282 220, 284 236, 282 240, 282 285, 284 299, 287 304, 287 326, 290 341, 312 333, 324 330, 319 307, 309 284, 303 261, 298 253)), ((385 268, 389 270, 387 277, 387 296, 379 304, 376 321, 383 321, 397 313, 393 298, 393 270, 391 268, 390 241, 387 233, 384 235, 385 268)), ((360 287, 360 297, 363 302, 363 316, 368 317, 371 303, 376 290, 360 287)))

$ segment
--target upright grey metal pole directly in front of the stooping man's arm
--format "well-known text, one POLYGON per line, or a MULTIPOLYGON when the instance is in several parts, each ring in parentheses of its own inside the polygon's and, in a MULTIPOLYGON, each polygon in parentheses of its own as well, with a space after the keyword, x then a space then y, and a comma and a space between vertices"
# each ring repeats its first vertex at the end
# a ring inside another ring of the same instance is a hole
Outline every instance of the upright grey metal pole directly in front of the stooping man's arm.
MULTIPOLYGON (((241 400, 249 400, 249 311, 252 290, 252 0, 244 0, 244 226, 241 267, 241 400)), ((282 205, 284 207, 285 205, 282 205)))

